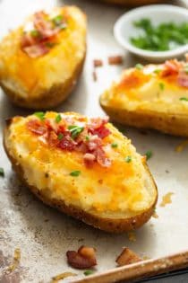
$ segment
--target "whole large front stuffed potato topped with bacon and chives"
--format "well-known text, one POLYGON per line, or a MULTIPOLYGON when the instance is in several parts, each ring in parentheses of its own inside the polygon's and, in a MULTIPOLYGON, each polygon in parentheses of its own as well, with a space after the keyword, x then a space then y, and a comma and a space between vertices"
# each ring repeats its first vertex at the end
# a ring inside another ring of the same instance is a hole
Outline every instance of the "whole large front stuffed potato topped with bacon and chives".
POLYGON ((120 233, 153 213, 158 190, 146 159, 107 119, 52 111, 14 117, 4 148, 39 199, 91 226, 120 233))

